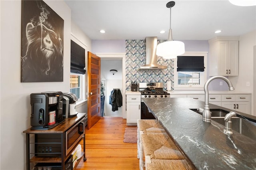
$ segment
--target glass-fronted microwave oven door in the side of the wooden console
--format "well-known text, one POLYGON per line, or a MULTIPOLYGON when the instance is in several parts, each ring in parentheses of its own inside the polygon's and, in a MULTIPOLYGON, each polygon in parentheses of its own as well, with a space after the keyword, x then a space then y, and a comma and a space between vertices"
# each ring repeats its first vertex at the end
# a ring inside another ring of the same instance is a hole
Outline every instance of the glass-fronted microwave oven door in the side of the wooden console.
POLYGON ((66 156, 72 151, 72 148, 77 144, 77 142, 83 137, 85 130, 85 119, 81 119, 73 127, 71 127, 66 132, 66 156))

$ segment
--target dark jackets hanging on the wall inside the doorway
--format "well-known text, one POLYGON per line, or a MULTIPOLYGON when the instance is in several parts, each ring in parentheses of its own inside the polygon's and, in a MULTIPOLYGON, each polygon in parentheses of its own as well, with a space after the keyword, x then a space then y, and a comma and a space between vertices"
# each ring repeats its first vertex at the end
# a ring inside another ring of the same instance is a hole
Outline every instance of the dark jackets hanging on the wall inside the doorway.
POLYGON ((123 97, 120 89, 113 89, 109 96, 109 104, 112 105, 112 111, 118 111, 118 107, 123 105, 123 97))

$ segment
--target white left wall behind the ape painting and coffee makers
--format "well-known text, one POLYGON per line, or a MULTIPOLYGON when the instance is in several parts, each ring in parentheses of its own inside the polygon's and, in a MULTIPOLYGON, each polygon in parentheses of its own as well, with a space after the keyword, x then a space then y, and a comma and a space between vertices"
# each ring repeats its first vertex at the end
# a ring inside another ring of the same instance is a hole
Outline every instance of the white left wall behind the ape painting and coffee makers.
MULTIPOLYGON (((70 77, 70 8, 59 0, 44 0, 64 20, 64 80, 51 83, 20 83, 21 1, 0 1, 0 169, 26 169, 24 130, 30 128, 30 93, 69 91, 70 77)), ((74 24, 72 24, 72 27, 74 24)), ((74 26, 73 34, 77 29, 74 26)), ((78 32, 86 41, 91 41, 78 32)), ((87 42, 88 41, 88 42, 87 42)))

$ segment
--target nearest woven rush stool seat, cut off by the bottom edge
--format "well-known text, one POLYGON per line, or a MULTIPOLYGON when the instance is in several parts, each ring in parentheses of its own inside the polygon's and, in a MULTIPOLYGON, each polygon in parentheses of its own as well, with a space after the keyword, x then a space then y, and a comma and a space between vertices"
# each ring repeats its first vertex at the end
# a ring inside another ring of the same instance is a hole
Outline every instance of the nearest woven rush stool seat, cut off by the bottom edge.
POLYGON ((146 170, 192 170, 186 160, 152 159, 146 170))

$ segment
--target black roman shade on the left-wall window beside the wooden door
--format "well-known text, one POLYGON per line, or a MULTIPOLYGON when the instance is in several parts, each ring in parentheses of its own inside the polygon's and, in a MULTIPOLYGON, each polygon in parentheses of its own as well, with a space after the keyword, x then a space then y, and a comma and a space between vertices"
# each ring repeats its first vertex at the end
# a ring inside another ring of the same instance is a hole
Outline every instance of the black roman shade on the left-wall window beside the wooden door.
POLYGON ((85 74, 85 49, 71 40, 70 72, 85 74))

